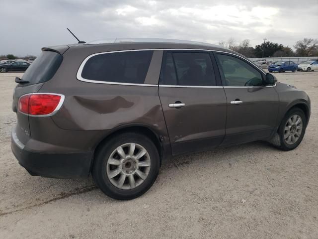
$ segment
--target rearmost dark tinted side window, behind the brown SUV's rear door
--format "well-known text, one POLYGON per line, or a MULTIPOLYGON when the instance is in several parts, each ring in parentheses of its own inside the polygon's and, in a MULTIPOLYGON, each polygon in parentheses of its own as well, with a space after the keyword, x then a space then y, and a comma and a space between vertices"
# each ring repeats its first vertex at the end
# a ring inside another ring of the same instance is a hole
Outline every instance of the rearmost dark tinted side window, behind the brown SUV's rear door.
POLYGON ((88 59, 81 77, 94 81, 143 84, 152 56, 153 51, 99 54, 88 59))

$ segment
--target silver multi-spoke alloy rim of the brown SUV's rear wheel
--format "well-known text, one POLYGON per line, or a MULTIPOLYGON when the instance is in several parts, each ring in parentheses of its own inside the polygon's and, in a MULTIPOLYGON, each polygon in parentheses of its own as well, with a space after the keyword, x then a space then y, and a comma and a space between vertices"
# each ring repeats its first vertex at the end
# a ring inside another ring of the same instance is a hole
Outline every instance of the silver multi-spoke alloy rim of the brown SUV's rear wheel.
POLYGON ((150 156, 143 146, 125 143, 110 154, 106 173, 115 187, 127 190, 141 185, 148 177, 150 167, 150 156))

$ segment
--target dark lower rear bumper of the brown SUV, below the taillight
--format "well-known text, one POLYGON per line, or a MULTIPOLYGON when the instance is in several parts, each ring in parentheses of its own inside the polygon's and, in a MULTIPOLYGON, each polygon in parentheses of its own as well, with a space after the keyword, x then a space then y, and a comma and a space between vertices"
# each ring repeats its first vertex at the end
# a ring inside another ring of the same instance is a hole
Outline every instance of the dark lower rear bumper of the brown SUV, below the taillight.
POLYGON ((50 178, 87 177, 92 162, 92 152, 49 153, 32 151, 18 139, 15 128, 11 134, 11 149, 31 175, 50 178))

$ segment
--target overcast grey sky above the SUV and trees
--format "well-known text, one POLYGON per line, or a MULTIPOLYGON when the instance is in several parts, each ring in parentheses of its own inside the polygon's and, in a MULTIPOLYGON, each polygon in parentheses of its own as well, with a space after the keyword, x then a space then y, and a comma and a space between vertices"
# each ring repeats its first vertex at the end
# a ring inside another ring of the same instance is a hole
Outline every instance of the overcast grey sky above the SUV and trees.
POLYGON ((293 46, 318 38, 318 0, 0 0, 0 54, 115 37, 293 46))

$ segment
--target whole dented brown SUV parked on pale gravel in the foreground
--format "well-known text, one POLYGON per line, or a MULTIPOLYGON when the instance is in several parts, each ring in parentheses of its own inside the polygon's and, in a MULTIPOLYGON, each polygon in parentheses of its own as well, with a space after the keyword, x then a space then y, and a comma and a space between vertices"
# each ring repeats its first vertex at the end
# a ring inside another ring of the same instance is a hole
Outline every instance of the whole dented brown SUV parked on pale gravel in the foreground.
POLYGON ((12 151, 31 175, 85 177, 127 200, 161 160, 217 146, 302 141, 308 95, 216 45, 142 40, 46 47, 21 79, 12 151))

